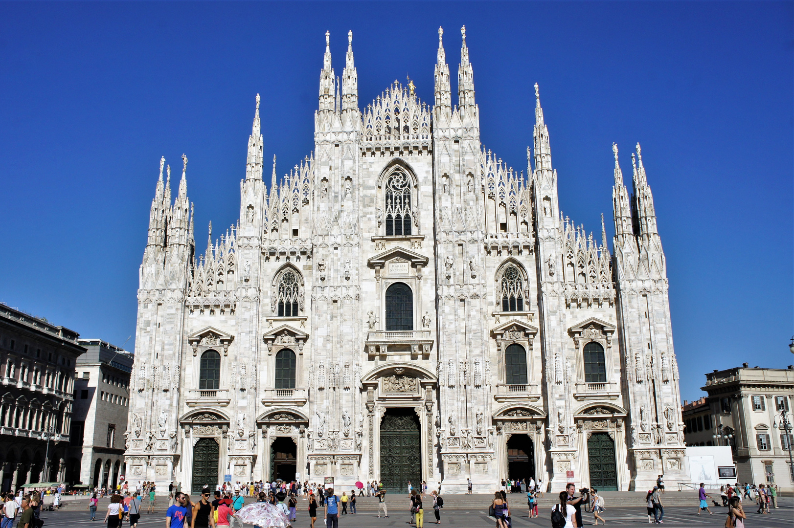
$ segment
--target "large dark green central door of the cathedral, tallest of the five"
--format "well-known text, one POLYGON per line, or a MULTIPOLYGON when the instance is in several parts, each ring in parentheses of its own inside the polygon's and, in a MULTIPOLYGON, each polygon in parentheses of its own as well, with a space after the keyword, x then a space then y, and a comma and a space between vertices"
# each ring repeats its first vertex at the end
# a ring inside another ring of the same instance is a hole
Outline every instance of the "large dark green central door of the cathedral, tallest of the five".
POLYGON ((389 491, 422 484, 419 419, 413 409, 389 409, 380 422, 380 480, 389 491))

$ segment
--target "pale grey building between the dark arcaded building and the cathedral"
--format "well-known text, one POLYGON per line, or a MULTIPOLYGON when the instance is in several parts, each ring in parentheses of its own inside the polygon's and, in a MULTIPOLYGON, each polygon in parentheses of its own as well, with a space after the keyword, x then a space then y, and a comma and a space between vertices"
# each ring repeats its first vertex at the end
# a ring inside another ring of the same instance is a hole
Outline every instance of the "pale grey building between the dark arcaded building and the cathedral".
POLYGON ((71 453, 79 474, 71 484, 115 487, 124 475, 133 355, 99 339, 81 339, 80 345, 87 353, 76 365, 71 453))

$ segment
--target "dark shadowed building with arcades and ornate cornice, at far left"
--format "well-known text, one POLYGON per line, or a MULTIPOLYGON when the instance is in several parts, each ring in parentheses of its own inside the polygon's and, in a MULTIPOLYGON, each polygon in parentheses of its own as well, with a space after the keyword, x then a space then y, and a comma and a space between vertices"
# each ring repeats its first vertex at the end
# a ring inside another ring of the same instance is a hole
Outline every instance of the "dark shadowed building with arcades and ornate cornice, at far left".
POLYGON ((0 304, 2 491, 71 477, 75 361, 86 351, 78 337, 63 326, 0 304))

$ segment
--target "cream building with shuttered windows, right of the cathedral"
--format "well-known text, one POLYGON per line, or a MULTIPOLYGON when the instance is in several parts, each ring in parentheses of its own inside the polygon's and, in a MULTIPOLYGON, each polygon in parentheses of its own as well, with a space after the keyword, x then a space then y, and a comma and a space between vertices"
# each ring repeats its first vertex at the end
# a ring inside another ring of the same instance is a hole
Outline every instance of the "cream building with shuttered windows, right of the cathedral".
MULTIPOLYGON (((691 410, 692 416, 711 415, 713 429, 709 437, 718 431, 733 435, 715 441, 715 445, 730 443, 738 480, 755 484, 774 482, 782 489, 794 489, 794 468, 788 460, 788 443, 794 441, 794 435, 787 437, 780 427, 774 427, 775 417, 781 413, 788 413, 789 422, 792 420, 794 365, 750 368, 745 363, 738 368, 715 370, 706 375, 706 386, 702 388, 708 393, 708 410, 698 406, 691 410)), ((688 411, 684 411, 684 418, 691 424, 688 411)), ((780 424, 780 418, 777 419, 780 424)), ((706 433, 700 427, 698 431, 687 432, 687 445, 703 445, 700 442, 705 441, 706 433)))

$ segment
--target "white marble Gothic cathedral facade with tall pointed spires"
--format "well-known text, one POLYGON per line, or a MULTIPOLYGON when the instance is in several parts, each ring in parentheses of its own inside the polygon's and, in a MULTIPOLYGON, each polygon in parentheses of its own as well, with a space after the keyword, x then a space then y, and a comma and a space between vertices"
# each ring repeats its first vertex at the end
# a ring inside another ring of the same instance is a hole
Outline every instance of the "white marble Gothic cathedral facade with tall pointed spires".
POLYGON ((535 85, 526 177, 480 142, 465 30, 457 106, 358 102, 329 35, 314 151, 263 179, 259 96, 240 219, 199 256, 187 157, 164 160, 141 264, 126 477, 381 480, 492 491, 684 478, 665 256, 639 145, 615 152, 612 252, 561 214, 535 85), (437 485, 437 484, 436 484, 437 485))

